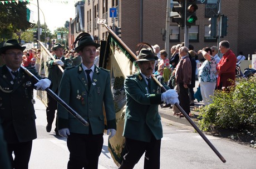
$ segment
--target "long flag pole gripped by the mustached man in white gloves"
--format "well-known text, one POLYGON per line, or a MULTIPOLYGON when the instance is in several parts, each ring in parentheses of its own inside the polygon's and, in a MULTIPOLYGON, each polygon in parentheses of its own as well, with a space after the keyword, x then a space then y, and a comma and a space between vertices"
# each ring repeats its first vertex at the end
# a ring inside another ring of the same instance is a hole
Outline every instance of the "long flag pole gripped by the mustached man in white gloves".
MULTIPOLYGON (((134 58, 135 60, 138 60, 138 58, 136 57, 136 55, 131 51, 131 49, 129 47, 127 47, 127 45, 122 42, 122 40, 115 34, 115 32, 110 29, 107 24, 106 24, 106 20, 105 19, 100 19, 97 18, 97 24, 102 24, 104 25, 104 27, 109 30, 109 32, 111 33, 111 35, 120 43, 123 45, 123 47, 127 50, 127 52, 129 52, 129 54, 132 56, 132 58, 134 58)), ((155 78, 154 75, 151 75, 151 78, 157 83, 157 85, 160 86, 162 91, 166 91, 166 89, 164 88, 164 86, 155 78)), ((220 158, 220 160, 225 163, 226 160, 225 158, 219 153, 218 150, 216 150, 216 148, 214 147, 213 144, 211 144, 211 142, 207 139, 207 137, 203 134, 203 132, 198 128, 198 126, 196 126, 195 122, 193 120, 190 119, 189 115, 186 114, 186 112, 183 110, 183 108, 178 104, 175 103, 174 104, 179 111, 184 115, 184 117, 186 118, 186 120, 189 121, 189 123, 191 124, 191 126, 194 127, 194 129, 198 132, 198 134, 203 138, 203 140, 206 142, 206 144, 208 144, 208 146, 210 146, 211 150, 213 150, 215 152, 215 154, 220 158)))

